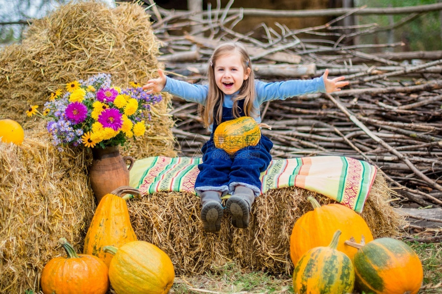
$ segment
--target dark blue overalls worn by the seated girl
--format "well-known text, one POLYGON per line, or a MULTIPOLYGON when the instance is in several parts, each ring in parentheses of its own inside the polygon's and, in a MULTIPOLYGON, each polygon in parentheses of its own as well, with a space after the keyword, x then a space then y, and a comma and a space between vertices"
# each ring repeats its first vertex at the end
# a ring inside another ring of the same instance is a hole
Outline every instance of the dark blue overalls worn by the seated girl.
MULTIPOLYGON (((244 116, 244 100, 238 101, 239 114, 244 116)), ((233 120, 232 108, 223 106, 222 122, 233 120)), ((202 191, 221 191, 222 195, 232 193, 236 185, 243 185, 253 190, 255 197, 261 194, 260 174, 266 170, 272 157, 270 149, 273 143, 261 134, 256 146, 249 146, 230 155, 215 147, 213 132, 218 125, 213 123, 210 140, 201 148, 202 163, 198 165, 199 174, 195 182, 198 195, 202 191)))

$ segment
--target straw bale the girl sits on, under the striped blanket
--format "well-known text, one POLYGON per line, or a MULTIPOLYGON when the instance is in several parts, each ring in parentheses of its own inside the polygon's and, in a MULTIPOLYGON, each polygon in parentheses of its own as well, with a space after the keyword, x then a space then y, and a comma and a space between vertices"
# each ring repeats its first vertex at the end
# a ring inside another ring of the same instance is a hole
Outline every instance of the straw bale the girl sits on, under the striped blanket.
MULTIPOLYGON (((378 173, 361 214, 375 238, 395 236, 401 224, 389 204, 391 194, 378 173)), ((232 261, 244 269, 291 275, 290 234, 296 220, 311 210, 309 195, 322 204, 333 202, 297 187, 270 190, 253 204, 248 229, 234 228, 225 215, 219 233, 204 231, 199 199, 190 193, 145 195, 128 207, 138 239, 168 253, 178 275, 217 271, 232 261)))

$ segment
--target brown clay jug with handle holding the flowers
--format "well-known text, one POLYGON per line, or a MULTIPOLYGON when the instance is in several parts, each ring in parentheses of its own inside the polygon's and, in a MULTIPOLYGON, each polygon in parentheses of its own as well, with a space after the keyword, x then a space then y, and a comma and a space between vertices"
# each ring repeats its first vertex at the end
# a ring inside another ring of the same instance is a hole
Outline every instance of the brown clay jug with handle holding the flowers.
POLYGON ((98 205, 104 195, 129 185, 129 171, 135 161, 131 156, 121 156, 118 146, 92 148, 92 156, 89 178, 98 205), (126 161, 130 161, 129 167, 126 161))

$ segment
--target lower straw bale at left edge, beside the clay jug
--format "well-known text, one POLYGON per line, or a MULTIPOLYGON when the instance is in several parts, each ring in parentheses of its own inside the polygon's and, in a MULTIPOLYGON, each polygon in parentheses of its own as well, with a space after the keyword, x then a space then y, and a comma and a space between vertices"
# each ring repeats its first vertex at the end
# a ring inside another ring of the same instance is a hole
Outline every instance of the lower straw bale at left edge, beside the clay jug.
POLYGON ((21 146, 0 144, 0 293, 38 290, 43 266, 65 256, 59 238, 82 250, 95 210, 85 153, 29 132, 21 146))

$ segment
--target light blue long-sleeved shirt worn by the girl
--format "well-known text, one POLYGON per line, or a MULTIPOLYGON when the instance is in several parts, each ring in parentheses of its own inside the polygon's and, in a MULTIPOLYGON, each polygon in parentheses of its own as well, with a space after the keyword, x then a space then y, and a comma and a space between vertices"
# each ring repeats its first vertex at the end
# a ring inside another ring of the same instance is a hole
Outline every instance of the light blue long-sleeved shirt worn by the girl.
MULTIPOLYGON (((196 102, 206 105, 208 85, 190 84, 167 77, 163 91, 171 93, 189 102, 196 102)), ((256 116, 254 120, 261 123, 260 105, 271 100, 285 100, 289 97, 298 95, 322 92, 325 93, 324 79, 322 76, 312 80, 290 80, 283 82, 266 83, 255 80, 255 100, 253 101, 253 109, 256 116)), ((224 95, 223 106, 233 107, 232 95, 224 95)), ((212 126, 209 126, 212 131, 212 126)))

